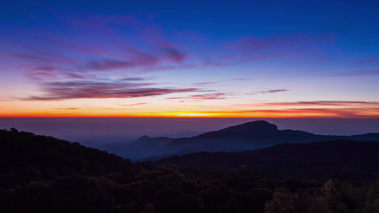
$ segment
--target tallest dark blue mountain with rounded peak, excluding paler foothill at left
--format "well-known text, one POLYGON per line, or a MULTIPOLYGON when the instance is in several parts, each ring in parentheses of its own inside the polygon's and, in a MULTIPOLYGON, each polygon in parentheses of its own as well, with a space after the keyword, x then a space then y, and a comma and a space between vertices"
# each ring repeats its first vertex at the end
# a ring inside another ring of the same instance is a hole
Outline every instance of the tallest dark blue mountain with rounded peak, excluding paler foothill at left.
POLYGON ((279 143, 309 143, 316 141, 356 140, 379 141, 379 133, 357 136, 324 136, 305 131, 278 130, 267 121, 252 121, 211 131, 192 138, 178 138, 168 143, 167 151, 178 155, 201 151, 248 151, 265 148, 279 143))

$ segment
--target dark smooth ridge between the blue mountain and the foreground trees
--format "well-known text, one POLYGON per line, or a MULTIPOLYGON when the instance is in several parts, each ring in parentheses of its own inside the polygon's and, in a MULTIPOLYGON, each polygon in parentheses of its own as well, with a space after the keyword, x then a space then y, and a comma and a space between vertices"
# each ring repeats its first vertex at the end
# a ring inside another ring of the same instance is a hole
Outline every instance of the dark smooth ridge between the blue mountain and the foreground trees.
POLYGON ((191 153, 157 160, 158 165, 207 169, 250 168, 284 173, 296 178, 328 174, 329 177, 352 179, 376 177, 379 174, 379 141, 324 141, 283 143, 256 151, 191 153), (360 177, 361 176, 361 177, 360 177))

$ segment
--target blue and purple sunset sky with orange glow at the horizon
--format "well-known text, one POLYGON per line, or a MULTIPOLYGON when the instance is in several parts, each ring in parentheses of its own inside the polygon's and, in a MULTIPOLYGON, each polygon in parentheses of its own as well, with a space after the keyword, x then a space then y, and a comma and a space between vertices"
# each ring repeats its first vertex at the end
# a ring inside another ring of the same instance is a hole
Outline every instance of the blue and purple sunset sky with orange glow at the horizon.
POLYGON ((379 119, 378 11, 2 0, 0 116, 379 119))

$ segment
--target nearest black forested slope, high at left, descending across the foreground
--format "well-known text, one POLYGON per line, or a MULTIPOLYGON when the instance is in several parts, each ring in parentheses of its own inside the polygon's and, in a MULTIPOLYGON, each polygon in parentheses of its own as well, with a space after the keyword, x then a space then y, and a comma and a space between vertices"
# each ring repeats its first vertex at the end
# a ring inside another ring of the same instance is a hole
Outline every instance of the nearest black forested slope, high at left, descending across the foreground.
POLYGON ((79 143, 0 130, 0 212, 379 212, 379 180, 132 163, 79 143))

